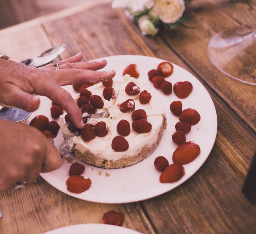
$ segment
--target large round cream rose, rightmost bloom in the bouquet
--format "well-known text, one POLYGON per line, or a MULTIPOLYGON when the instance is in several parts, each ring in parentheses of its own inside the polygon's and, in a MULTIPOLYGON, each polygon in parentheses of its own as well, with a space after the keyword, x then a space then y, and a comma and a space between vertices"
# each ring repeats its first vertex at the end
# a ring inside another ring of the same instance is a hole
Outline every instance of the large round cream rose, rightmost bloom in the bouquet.
POLYGON ((184 0, 155 0, 153 10, 164 23, 175 23, 185 10, 184 0))

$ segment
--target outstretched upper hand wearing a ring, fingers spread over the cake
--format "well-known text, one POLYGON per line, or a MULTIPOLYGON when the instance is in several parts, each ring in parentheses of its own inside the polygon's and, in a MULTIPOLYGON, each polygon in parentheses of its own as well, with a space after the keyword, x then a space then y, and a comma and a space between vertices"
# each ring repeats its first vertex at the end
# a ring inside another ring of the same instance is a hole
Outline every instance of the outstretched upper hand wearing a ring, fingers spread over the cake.
POLYGON ((53 64, 35 68, 0 59, 0 101, 31 112, 40 104, 38 96, 32 94, 44 95, 60 104, 76 127, 83 128, 79 107, 70 93, 60 86, 108 80, 114 77, 115 72, 97 72, 106 66, 106 60, 80 62, 82 58, 83 54, 79 53, 60 61, 59 70, 53 64))

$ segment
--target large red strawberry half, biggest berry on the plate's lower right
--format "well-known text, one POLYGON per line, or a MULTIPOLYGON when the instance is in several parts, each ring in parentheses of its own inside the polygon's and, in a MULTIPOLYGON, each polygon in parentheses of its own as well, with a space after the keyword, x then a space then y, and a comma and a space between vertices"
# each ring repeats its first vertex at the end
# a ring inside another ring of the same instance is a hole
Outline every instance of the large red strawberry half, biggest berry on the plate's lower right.
POLYGON ((180 144, 172 154, 172 161, 179 164, 192 162, 199 154, 200 147, 193 141, 180 144))

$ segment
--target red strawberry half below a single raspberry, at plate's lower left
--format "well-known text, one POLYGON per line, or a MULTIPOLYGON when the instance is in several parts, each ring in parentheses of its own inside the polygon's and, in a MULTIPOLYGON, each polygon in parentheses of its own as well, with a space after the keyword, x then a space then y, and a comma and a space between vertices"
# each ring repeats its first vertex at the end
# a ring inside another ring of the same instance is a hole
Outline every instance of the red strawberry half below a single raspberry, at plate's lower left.
POLYGON ((81 175, 72 175, 67 179, 67 190, 71 193, 82 193, 90 188, 92 181, 88 178, 85 179, 81 175))

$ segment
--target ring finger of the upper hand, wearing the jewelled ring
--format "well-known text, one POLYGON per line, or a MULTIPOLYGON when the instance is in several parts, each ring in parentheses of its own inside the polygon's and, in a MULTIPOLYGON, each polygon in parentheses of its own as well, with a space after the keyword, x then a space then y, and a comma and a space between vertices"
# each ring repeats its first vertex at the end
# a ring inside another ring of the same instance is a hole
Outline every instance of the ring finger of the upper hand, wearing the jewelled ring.
MULTIPOLYGON (((93 62, 72 62, 72 63, 60 63, 60 69, 88 69, 88 70, 99 70, 104 68, 107 65, 107 61, 105 59, 93 62)), ((51 70, 55 70, 55 67, 51 67, 51 70)))

